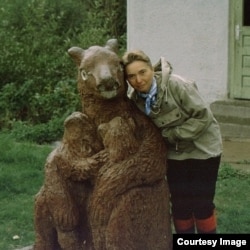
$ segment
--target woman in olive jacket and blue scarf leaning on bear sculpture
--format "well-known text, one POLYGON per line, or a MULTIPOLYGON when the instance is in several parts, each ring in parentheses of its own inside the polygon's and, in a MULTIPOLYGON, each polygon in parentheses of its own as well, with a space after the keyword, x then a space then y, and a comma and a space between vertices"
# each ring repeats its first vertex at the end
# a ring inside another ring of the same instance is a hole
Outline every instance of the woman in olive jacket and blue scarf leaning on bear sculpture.
POLYGON ((176 233, 216 233, 214 195, 222 153, 220 129, 193 81, 153 67, 140 50, 123 56, 130 98, 160 129, 168 146, 168 183, 176 233))

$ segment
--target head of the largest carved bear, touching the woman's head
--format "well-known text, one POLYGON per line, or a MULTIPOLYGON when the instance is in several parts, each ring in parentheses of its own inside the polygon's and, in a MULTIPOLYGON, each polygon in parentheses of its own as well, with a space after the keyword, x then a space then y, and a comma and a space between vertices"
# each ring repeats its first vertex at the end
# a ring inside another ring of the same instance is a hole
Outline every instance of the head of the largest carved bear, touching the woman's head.
POLYGON ((113 99, 126 95, 127 84, 117 50, 116 39, 108 40, 104 47, 91 46, 86 50, 72 47, 68 50, 79 69, 78 90, 83 96, 113 99))

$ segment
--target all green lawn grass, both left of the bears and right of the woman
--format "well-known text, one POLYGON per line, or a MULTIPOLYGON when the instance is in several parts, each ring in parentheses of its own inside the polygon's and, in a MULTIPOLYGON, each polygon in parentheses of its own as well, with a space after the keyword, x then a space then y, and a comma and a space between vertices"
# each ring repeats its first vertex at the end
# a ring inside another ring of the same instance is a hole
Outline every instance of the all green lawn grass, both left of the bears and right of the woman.
MULTIPOLYGON (((34 243, 34 195, 43 183, 51 150, 48 145, 17 143, 0 134, 0 249, 34 243), (18 239, 13 239, 16 235, 18 239)), ((250 233, 249 193, 250 175, 222 163, 215 197, 218 233, 250 233)))

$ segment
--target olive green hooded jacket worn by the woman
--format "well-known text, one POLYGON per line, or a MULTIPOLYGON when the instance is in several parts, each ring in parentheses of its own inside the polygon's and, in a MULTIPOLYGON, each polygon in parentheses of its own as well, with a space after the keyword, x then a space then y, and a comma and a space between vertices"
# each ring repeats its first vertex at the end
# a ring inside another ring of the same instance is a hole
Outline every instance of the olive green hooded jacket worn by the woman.
MULTIPOLYGON (((221 155, 219 125, 195 82, 172 74, 171 65, 163 57, 154 70, 157 98, 149 117, 168 145, 168 158, 208 159, 221 155)), ((134 90, 130 98, 144 112, 145 99, 134 90)))

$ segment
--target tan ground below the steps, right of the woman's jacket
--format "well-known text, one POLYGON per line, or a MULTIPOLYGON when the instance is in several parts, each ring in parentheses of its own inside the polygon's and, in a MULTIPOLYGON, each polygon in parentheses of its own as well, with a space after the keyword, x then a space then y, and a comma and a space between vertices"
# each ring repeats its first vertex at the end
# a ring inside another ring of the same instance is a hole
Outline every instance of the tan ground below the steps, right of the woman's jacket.
POLYGON ((222 162, 250 173, 250 139, 224 140, 222 162))

